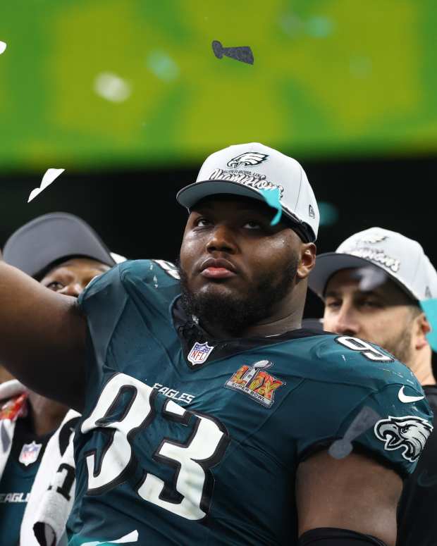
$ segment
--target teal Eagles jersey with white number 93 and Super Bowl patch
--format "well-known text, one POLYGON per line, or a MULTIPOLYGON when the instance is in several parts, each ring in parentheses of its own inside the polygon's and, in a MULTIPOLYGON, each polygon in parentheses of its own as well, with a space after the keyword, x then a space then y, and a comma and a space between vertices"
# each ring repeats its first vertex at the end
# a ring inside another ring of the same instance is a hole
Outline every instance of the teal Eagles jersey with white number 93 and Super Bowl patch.
MULTIPOLYGON (((353 447, 414 470, 431 410, 410 370, 353 337, 294 330, 214 340, 180 306, 177 271, 130 261, 96 278, 70 546, 296 545, 297 466, 353 447)), ((346 509, 347 507, 345 507, 346 509)))

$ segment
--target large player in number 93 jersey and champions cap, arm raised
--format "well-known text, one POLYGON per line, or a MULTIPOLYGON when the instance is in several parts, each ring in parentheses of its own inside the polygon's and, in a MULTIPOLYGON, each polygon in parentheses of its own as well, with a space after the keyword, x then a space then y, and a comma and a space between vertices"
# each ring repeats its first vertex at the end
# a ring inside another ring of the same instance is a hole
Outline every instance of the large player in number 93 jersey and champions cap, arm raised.
POLYGON ((70 546, 394 546, 401 476, 431 411, 383 349, 300 328, 319 227, 304 170, 238 144, 177 199, 189 211, 178 270, 121 263, 76 304, 0 264, 0 358, 83 410, 70 546), (275 225, 265 192, 280 199, 275 225), (408 442, 388 445, 406 422, 408 442))

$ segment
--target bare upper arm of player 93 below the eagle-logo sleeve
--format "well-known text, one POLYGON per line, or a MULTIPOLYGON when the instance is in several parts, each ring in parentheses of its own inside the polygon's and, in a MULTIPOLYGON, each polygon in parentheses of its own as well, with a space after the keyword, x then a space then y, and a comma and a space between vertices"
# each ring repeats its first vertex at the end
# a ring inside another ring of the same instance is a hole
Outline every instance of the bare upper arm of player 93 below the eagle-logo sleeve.
POLYGON ((320 527, 343 528, 395 546, 401 492, 400 476, 374 459, 317 453, 297 468, 299 536, 320 527))

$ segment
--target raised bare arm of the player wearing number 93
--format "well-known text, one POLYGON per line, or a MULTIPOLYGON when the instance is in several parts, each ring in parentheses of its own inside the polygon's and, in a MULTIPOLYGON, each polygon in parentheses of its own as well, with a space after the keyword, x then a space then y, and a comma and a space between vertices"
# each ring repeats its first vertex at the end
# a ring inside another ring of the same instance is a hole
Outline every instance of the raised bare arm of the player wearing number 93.
POLYGON ((0 362, 27 387, 82 409, 86 321, 56 294, 1 261, 0 362))

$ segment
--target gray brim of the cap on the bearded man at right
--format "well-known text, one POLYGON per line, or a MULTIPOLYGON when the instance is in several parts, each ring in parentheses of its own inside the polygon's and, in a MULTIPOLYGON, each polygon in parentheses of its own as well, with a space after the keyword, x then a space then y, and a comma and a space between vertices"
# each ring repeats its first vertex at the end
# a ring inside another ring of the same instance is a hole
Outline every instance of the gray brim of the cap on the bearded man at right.
POLYGON ((316 266, 309 275, 308 286, 313 292, 315 292, 321 299, 324 299, 324 294, 326 290, 326 285, 328 280, 342 269, 357 269, 364 267, 374 267, 381 269, 386 273, 387 277, 390 280, 400 287, 400 289, 405 292, 412 299, 417 300, 417 297, 394 275, 391 275, 386 268, 378 266, 376 263, 373 263, 359 256, 353 256, 353 254, 343 254, 341 252, 326 252, 324 254, 319 254, 316 256, 316 266))

